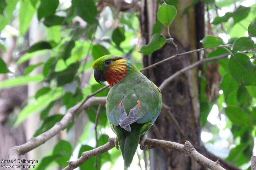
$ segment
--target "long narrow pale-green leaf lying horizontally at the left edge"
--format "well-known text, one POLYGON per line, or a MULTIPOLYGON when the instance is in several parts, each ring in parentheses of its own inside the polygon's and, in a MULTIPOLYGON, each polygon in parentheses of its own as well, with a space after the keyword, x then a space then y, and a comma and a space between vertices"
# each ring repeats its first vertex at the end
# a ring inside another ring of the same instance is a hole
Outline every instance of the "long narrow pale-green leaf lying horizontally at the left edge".
POLYGON ((0 89, 7 87, 15 87, 19 85, 27 85, 30 82, 40 82, 44 79, 44 76, 39 74, 35 76, 20 76, 11 79, 7 79, 0 82, 0 89))

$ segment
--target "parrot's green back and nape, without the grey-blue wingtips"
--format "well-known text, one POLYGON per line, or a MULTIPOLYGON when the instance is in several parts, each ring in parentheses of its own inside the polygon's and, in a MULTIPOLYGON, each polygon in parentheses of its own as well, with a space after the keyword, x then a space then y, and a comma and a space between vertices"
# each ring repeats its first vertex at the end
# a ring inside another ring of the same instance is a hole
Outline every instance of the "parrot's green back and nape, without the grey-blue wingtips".
POLYGON ((114 85, 108 92, 106 111, 108 121, 113 125, 118 125, 120 112, 118 105, 122 101, 124 109, 129 115, 130 110, 136 106, 140 100, 141 108, 137 112, 137 117, 141 117, 137 123, 155 122, 161 112, 162 94, 157 86, 132 64, 131 70, 120 83, 114 85), (144 115, 144 117, 143 117, 144 115))

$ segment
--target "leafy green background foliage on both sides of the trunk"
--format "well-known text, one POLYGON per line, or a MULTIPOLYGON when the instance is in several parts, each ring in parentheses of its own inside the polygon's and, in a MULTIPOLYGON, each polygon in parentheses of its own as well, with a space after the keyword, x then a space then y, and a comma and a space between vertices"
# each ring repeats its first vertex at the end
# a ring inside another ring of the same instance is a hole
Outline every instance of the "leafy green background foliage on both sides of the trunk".
MULTIPOLYGON (((194 0, 182 13, 185 15, 199 1, 194 0)), ((217 83, 217 87, 213 89, 217 93, 213 96, 209 96, 208 93, 212 90, 208 88, 209 81, 206 74, 209 65, 204 64, 204 69, 199 71, 201 124, 203 131, 212 134, 212 138, 204 142, 210 151, 216 147, 224 149, 224 155, 220 152, 214 154, 225 157, 226 160, 246 169, 252 156, 256 131, 256 5, 255 2, 251 3, 252 1, 248 0, 202 1, 207 6, 205 14, 209 17, 206 18, 206 23, 211 23, 207 29, 212 34, 201 42, 205 48, 214 48, 205 50, 205 56, 215 57, 230 52, 234 54, 211 63, 218 65, 217 73, 211 74, 221 75, 220 82, 213 82, 217 83), (227 44, 230 45, 227 48, 217 48, 227 44), (215 122, 212 122, 211 111, 216 112, 216 107, 218 114, 214 117, 215 122)), ((102 55, 124 56, 141 69, 141 53, 149 55, 161 48, 166 41, 170 41, 161 33, 175 18, 177 13, 175 7, 179 5, 179 1, 158 0, 158 3, 158 21, 153 27, 152 40, 148 45, 140 48, 138 12, 119 12, 109 6, 98 11, 97 0, 0 1, 1 52, 4 53, 10 48, 8 42, 10 37, 18 36, 15 49, 17 57, 12 59, 16 66, 26 63, 36 55, 43 56, 42 61, 29 64, 19 76, 8 69, 0 58, 0 73, 9 77, 0 82, 0 89, 31 82, 44 84, 34 96, 29 96, 32 102, 23 107, 14 126, 18 126, 28 115, 39 112, 41 124, 38 125, 34 135, 38 136, 63 117, 63 111, 50 114, 54 105, 64 106, 66 111, 85 99, 88 94, 101 88, 103 85, 97 84, 92 76, 91 65, 102 55), (34 14, 43 25, 41 27, 45 34, 43 40, 30 44, 28 28, 34 14), (17 29, 18 33, 10 31, 10 28, 17 29), (30 44, 29 48, 27 44, 30 44), (41 68, 42 73, 32 74, 36 68, 41 68), (85 75, 88 75, 89 80, 85 81, 85 75)), ((106 96, 107 93, 108 89, 96 96, 106 96)), ((82 152, 93 149, 95 142, 92 141, 95 140, 93 138, 95 134, 92 128, 97 109, 98 106, 90 106, 86 110, 89 122, 81 127, 84 128, 84 132, 76 145, 71 146, 68 141, 60 140, 52 153, 40 161, 37 169, 45 169, 53 162, 60 167, 67 166, 66 161, 72 154, 76 159, 82 152)), ((110 128, 105 111, 105 107, 100 111, 97 128, 98 146, 108 142, 105 132, 110 128)), ((71 133, 70 129, 77 117, 69 123, 68 133, 71 133)), ((98 156, 99 169, 105 163, 110 163, 110 167, 113 167, 120 154, 121 152, 113 149, 98 156)), ((96 169, 95 161, 95 157, 89 159, 80 169, 87 167, 96 169)))

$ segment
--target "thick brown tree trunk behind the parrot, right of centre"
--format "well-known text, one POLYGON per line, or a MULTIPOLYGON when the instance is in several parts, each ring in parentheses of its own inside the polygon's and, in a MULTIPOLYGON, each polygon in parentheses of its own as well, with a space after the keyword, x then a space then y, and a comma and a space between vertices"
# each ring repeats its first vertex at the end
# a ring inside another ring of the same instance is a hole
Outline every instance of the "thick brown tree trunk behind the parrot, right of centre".
MULTIPOLYGON (((180 0, 178 2, 176 6, 178 13, 170 26, 171 36, 179 47, 180 53, 200 48, 198 47, 198 42, 204 36, 204 30, 200 30, 200 28, 204 29, 203 4, 199 3, 195 8, 190 8, 188 13, 183 15, 184 9, 192 2, 193 0, 180 0)), ((145 40, 145 44, 148 44, 151 39, 152 26, 156 22, 156 15, 152 13, 156 14, 158 6, 156 0, 145 0, 142 4, 144 5, 142 5, 140 13, 141 32, 144 33, 142 37, 145 40)), ((167 37, 166 30, 163 31, 163 34, 167 37)), ((144 67, 175 54, 175 47, 171 42, 168 42, 163 48, 155 51, 152 55, 144 56, 144 67)), ((179 56, 144 72, 144 74, 159 86, 164 79, 170 77, 178 70, 195 63, 198 58, 196 53, 179 56)), ((197 68, 187 71, 162 90, 163 102, 171 107, 171 113, 162 109, 162 113, 156 120, 155 126, 149 131, 151 138, 162 138, 181 144, 189 140, 196 147, 203 146, 200 138, 201 125, 197 71, 197 68), (179 122, 179 128, 175 128, 171 122, 170 114, 173 114, 179 122)), ((200 164, 187 155, 164 149, 150 150, 150 168, 151 170, 204 169, 204 167, 201 167, 200 164)))

